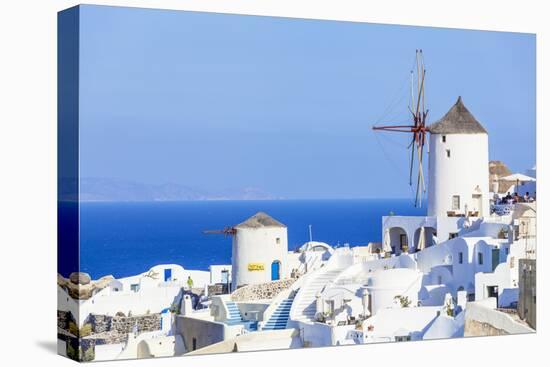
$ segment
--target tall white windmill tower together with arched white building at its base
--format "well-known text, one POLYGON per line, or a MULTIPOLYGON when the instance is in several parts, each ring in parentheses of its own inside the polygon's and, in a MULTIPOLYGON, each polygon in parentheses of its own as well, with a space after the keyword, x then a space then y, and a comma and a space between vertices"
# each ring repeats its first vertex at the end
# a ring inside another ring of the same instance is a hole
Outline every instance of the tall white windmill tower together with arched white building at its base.
POLYGON ((462 98, 428 131, 428 215, 382 218, 395 254, 415 252, 421 237, 424 248, 456 237, 490 214, 489 136, 462 98))

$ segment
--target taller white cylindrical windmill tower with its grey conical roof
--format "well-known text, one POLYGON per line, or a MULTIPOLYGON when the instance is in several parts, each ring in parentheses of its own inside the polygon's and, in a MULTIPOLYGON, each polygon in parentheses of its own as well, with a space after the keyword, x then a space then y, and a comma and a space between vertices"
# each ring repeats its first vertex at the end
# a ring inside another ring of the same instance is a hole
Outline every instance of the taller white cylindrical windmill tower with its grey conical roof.
POLYGON ((430 132, 428 215, 488 215, 489 136, 459 97, 430 132))

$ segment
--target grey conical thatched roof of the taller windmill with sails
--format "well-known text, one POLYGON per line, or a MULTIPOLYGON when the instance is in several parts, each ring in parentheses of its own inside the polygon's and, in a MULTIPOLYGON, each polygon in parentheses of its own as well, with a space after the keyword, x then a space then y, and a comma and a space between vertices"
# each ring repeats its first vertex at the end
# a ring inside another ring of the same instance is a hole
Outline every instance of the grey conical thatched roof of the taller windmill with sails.
POLYGON ((428 127, 432 134, 487 134, 487 130, 462 103, 462 97, 439 121, 428 127))

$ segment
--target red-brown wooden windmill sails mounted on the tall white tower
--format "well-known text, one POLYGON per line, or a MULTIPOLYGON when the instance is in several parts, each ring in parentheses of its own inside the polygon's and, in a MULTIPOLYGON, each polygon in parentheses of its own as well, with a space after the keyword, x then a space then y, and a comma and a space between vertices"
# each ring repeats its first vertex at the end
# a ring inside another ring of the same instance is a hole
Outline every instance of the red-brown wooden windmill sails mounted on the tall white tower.
POLYGON ((421 207, 422 195, 426 192, 422 161, 424 156, 424 145, 426 144, 426 133, 428 132, 428 128, 426 126, 428 110, 425 109, 424 102, 424 82, 426 79, 426 69, 424 68, 424 56, 421 49, 416 50, 416 76, 417 78, 415 83, 414 71, 411 70, 411 99, 408 108, 412 115, 411 123, 408 125, 373 126, 372 129, 409 134, 412 133, 412 139, 408 146, 408 149, 411 150, 409 185, 413 185, 413 167, 416 155, 416 159, 418 160, 418 174, 416 177, 416 196, 414 205, 421 207))

